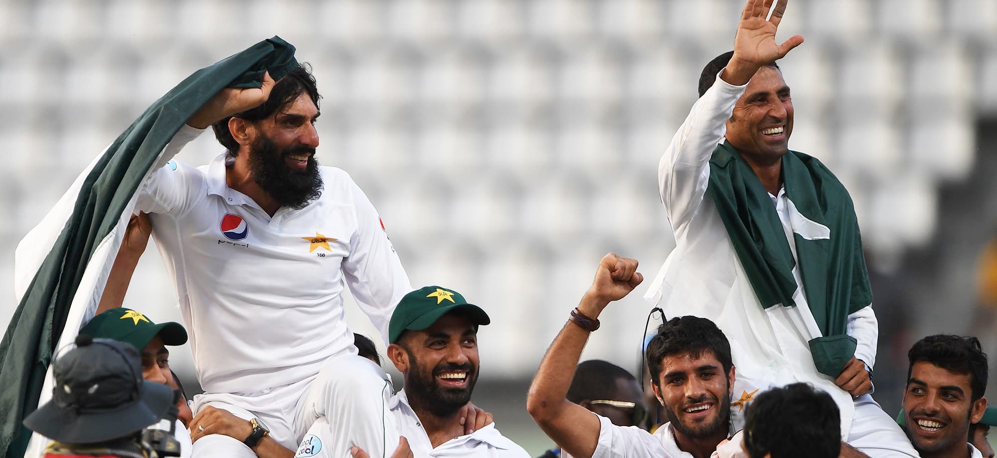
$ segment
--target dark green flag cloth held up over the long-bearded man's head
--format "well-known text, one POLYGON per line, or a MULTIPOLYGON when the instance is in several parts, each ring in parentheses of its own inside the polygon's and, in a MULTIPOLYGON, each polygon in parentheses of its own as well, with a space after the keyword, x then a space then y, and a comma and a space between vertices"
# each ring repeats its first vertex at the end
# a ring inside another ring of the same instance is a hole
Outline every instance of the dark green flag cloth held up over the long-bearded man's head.
POLYGON ((264 72, 279 80, 297 65, 294 47, 273 37, 198 70, 140 115, 98 160, 0 342, 0 456, 24 456, 31 433, 21 421, 38 406, 54 346, 91 256, 169 139, 223 88, 259 88, 264 72))

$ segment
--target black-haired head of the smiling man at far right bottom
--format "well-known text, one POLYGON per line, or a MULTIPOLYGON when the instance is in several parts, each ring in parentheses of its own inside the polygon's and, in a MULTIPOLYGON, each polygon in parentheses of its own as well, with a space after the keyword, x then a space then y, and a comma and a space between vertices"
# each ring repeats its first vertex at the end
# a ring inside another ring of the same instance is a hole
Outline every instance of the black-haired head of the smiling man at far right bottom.
POLYGON ((979 458, 970 424, 987 409, 987 356, 972 337, 934 335, 907 351, 904 422, 922 458, 979 458))

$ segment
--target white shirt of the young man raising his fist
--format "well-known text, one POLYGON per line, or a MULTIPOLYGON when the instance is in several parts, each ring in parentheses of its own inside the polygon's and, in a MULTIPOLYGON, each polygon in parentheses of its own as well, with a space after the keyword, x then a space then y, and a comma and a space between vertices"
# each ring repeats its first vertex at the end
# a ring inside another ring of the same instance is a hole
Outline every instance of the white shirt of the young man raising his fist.
POLYGON ((618 426, 599 417, 599 441, 592 458, 693 458, 679 449, 672 424, 665 423, 651 434, 637 426, 618 426))

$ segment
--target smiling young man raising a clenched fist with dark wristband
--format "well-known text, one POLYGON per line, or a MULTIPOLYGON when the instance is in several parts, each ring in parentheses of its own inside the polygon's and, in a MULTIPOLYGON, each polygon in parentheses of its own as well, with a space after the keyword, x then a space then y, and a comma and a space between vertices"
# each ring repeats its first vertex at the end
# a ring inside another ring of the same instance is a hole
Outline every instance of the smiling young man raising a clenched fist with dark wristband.
POLYGON ((709 320, 673 319, 648 344, 651 387, 669 423, 652 435, 614 425, 567 399, 571 374, 598 317, 610 302, 632 291, 643 277, 637 261, 608 254, 571 320, 550 343, 533 377, 526 409, 560 448, 575 458, 706 458, 728 437, 734 366, 727 338, 709 320))

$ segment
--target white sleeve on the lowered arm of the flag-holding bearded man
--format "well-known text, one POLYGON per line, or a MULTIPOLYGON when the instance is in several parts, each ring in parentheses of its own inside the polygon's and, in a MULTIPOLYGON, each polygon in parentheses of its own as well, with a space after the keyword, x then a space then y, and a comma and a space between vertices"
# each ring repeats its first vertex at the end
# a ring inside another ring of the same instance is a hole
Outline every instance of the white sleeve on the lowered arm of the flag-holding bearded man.
POLYGON ((342 264, 343 276, 360 310, 367 314, 387 344, 391 314, 402 297, 412 291, 412 285, 377 210, 355 183, 353 205, 357 232, 350 238, 350 254, 342 264))

